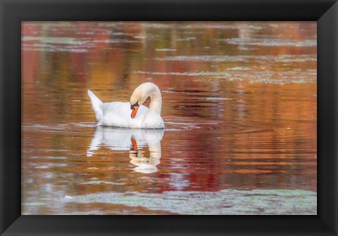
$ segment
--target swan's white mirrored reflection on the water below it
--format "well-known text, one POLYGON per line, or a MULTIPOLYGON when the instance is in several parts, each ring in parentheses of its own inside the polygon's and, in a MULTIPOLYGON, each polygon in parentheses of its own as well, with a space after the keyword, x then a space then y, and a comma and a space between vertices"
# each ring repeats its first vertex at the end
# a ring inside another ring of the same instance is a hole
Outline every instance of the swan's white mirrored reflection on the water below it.
POLYGON ((98 126, 87 150, 87 157, 91 157, 101 145, 111 150, 129 150, 130 163, 134 164, 134 171, 140 173, 154 173, 161 159, 161 140, 163 129, 120 129, 98 126), (142 147, 149 147, 150 157, 144 157, 142 147))

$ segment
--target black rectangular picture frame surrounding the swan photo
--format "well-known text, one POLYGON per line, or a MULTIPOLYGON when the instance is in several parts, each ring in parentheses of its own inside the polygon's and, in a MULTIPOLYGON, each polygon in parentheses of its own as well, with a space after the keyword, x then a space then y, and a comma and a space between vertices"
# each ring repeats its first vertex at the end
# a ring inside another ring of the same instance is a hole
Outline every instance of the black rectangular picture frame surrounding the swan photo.
POLYGON ((337 235, 338 3, 333 0, 0 0, 1 235, 337 235), (20 26, 24 20, 318 22, 317 216, 21 216, 20 26))

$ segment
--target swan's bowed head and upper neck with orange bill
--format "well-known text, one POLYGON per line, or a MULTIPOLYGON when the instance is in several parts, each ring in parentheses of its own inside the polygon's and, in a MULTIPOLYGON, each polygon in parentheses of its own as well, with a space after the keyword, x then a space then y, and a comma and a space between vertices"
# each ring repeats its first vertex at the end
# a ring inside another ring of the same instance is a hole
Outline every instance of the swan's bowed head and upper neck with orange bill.
POLYGON ((156 91, 158 89, 158 86, 156 84, 153 84, 151 82, 146 82, 144 84, 140 84, 132 93, 132 96, 130 97, 130 110, 132 110, 131 117, 134 119, 134 117, 137 114, 137 110, 139 110, 139 106, 142 105, 146 98, 148 98, 151 93, 156 91))

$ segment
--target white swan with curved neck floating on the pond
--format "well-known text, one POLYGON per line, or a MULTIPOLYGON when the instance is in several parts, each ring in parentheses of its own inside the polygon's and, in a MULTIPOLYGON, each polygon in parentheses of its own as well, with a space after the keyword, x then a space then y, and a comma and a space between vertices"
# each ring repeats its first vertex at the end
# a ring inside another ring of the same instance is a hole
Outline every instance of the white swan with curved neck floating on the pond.
POLYGON ((130 103, 102 103, 90 90, 88 90, 88 96, 99 126, 139 129, 164 128, 161 117, 161 91, 153 83, 146 82, 139 85, 132 93, 130 103), (142 105, 148 97, 151 99, 149 108, 142 105), (131 114, 130 110, 132 110, 131 114))

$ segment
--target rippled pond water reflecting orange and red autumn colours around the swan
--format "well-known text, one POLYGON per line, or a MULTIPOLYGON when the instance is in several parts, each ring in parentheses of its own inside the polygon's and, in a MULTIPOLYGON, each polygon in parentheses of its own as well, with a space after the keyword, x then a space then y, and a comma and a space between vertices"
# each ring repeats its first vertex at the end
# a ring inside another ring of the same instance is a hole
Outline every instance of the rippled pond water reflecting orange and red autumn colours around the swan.
POLYGON ((317 214, 316 27, 23 22, 22 214, 317 214), (145 81, 164 130, 96 126, 145 81))

